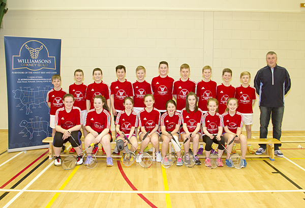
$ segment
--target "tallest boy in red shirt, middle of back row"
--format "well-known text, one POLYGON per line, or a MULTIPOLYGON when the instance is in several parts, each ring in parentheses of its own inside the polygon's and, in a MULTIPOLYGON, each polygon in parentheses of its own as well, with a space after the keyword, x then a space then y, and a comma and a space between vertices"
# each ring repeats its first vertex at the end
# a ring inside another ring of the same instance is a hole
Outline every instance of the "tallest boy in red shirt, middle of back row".
POLYGON ((174 79, 167 75, 167 62, 160 62, 158 70, 160 75, 154 77, 153 80, 151 80, 151 90, 153 90, 155 99, 154 107, 157 108, 161 114, 163 114, 166 112, 166 102, 173 98, 172 91, 174 79))

